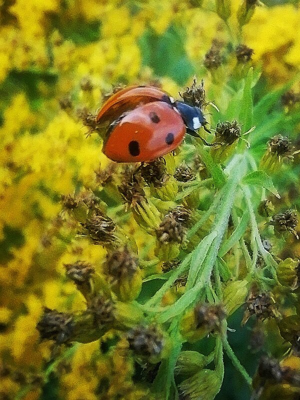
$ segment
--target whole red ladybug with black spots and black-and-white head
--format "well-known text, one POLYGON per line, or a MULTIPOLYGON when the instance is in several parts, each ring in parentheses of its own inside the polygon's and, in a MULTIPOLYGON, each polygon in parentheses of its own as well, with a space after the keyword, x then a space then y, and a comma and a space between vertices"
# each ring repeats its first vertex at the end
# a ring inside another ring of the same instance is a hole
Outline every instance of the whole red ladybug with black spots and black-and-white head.
POLYGON ((108 158, 136 162, 172 151, 186 132, 199 137, 196 130, 205 128, 206 120, 200 108, 175 101, 157 87, 129 86, 108 98, 96 123, 109 123, 103 143, 108 158))

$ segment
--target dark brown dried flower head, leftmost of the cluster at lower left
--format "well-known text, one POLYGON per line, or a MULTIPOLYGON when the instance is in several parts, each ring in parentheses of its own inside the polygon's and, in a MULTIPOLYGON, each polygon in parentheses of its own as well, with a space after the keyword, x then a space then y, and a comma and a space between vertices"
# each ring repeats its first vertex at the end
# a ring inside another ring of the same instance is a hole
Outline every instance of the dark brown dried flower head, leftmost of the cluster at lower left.
POLYGON ((73 315, 45 308, 36 325, 40 338, 55 340, 62 344, 70 340, 74 330, 73 315))

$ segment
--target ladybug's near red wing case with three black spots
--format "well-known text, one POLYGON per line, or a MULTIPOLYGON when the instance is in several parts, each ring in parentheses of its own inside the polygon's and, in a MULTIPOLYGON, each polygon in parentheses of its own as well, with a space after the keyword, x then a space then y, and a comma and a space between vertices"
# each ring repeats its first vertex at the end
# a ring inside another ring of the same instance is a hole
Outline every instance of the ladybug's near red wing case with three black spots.
POLYGON ((176 148, 185 133, 184 122, 164 101, 140 105, 109 131, 103 152, 117 162, 152 161, 176 148))

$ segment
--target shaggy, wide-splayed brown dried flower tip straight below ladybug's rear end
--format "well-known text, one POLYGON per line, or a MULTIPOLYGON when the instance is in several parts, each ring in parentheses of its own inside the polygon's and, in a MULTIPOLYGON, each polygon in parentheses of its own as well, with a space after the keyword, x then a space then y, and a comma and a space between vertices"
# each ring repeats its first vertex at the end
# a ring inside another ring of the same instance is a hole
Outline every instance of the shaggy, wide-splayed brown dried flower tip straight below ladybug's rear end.
POLYGON ((102 215, 99 210, 85 222, 81 222, 81 226, 94 244, 111 243, 115 239, 113 234, 115 223, 108 216, 102 215))

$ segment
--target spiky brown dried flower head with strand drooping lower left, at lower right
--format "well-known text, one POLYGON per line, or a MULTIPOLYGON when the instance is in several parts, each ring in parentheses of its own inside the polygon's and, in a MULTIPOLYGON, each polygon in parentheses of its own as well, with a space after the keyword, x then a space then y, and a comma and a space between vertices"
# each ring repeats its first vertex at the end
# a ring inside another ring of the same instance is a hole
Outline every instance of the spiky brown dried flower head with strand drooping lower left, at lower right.
POLYGON ((252 290, 246 300, 246 311, 242 323, 246 323, 251 315, 255 315, 258 320, 276 316, 275 301, 267 292, 257 293, 252 290))

